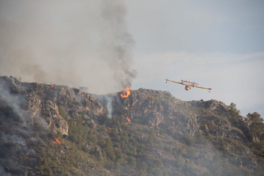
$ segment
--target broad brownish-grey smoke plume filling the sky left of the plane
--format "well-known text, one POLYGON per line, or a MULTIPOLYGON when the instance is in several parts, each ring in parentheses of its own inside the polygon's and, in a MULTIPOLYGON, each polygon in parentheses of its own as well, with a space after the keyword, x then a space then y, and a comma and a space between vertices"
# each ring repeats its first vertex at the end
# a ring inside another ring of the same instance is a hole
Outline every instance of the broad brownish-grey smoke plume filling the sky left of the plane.
POLYGON ((122 1, 1 1, 0 74, 96 94, 131 86, 125 15, 122 1))

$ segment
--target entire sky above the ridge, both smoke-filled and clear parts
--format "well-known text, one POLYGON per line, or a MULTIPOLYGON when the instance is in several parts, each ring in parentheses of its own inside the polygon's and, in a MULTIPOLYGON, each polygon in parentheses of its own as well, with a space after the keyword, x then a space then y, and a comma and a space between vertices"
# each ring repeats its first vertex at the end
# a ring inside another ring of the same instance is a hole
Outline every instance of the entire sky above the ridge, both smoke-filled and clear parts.
POLYGON ((148 88, 264 116, 263 1, 0 0, 0 74, 105 94, 148 88), (175 81, 192 77, 185 91, 175 81))

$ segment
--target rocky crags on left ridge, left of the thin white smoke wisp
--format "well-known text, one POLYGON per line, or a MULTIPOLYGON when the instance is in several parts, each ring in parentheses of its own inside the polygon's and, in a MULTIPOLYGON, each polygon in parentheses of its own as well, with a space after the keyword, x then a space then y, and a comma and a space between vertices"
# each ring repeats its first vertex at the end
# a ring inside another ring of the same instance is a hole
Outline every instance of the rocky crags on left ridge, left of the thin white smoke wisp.
MULTIPOLYGON (((48 125, 46 126, 52 126, 55 131, 60 130, 62 134, 68 135, 69 126, 59 115, 58 106, 63 106, 68 112, 66 112, 66 116, 69 114, 69 118, 74 119, 83 110, 93 117, 106 113, 98 101, 77 88, 55 84, 21 83, 13 77, 0 77, 0 81, 4 85, 4 89, 16 97, 19 96, 20 98, 17 99, 23 101, 23 103, 15 102, 19 110, 16 112, 16 116, 22 116, 31 125, 47 122, 48 125)), ((96 127, 96 123, 91 119, 88 125, 93 128, 96 127)))

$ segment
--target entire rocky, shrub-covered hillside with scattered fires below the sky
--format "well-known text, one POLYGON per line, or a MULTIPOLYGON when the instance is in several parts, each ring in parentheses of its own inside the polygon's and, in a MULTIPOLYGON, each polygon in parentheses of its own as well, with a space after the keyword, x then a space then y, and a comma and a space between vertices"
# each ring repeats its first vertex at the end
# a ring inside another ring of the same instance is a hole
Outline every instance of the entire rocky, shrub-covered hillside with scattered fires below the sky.
POLYGON ((235 104, 119 94, 0 77, 0 174, 264 174, 263 123, 235 104))

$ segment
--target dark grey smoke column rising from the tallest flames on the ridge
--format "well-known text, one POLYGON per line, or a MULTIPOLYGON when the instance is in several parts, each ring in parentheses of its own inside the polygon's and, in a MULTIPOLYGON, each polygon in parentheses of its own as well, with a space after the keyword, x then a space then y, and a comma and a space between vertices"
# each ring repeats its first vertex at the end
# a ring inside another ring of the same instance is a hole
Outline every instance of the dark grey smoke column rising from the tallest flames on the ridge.
POLYGON ((133 65, 131 48, 134 40, 127 31, 124 19, 126 8, 121 1, 104 1, 102 6, 105 27, 101 29, 103 36, 99 52, 114 71, 116 88, 124 89, 131 86, 132 79, 137 75, 137 71, 130 68, 133 65))

